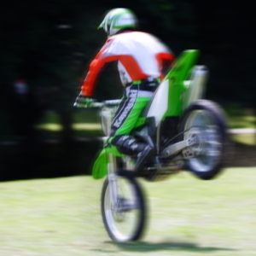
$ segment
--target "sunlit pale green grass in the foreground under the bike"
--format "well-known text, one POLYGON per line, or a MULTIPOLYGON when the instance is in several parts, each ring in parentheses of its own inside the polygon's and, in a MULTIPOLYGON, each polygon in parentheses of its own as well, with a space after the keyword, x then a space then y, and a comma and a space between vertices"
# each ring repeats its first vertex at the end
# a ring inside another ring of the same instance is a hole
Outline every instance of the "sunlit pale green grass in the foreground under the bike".
POLYGON ((142 241, 117 244, 102 224, 103 180, 61 177, 0 183, 0 255, 256 255, 256 167, 201 181, 181 172, 141 180, 142 241))

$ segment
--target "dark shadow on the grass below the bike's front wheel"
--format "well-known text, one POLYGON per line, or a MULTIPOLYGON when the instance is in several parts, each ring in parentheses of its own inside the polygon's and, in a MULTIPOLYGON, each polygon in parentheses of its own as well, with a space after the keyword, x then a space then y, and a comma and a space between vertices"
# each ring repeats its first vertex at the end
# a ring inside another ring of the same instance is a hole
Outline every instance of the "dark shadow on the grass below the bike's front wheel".
MULTIPOLYGON (((200 245, 187 242, 187 241, 163 241, 163 242, 147 242, 147 241, 134 241, 134 242, 114 242, 106 241, 107 244, 115 245, 122 251, 127 252, 155 252, 155 251, 188 251, 195 253, 212 253, 217 251, 236 251, 235 249, 225 247, 201 247, 200 245)), ((97 252, 105 252, 104 248, 95 249, 97 252)))

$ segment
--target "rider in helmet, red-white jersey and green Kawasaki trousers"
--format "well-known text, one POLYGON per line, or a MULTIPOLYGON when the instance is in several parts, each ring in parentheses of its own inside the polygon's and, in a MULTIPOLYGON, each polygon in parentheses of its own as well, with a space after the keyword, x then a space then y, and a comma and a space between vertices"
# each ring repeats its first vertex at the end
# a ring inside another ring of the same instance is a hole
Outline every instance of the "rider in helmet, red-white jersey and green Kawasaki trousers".
POLYGON ((118 61, 119 77, 125 90, 113 118, 108 143, 117 154, 137 156, 139 165, 154 154, 154 148, 138 143, 130 133, 175 56, 158 38, 137 31, 137 17, 130 9, 110 10, 98 28, 108 33, 108 39, 91 61, 75 103, 78 107, 90 105, 102 67, 110 61, 118 61))

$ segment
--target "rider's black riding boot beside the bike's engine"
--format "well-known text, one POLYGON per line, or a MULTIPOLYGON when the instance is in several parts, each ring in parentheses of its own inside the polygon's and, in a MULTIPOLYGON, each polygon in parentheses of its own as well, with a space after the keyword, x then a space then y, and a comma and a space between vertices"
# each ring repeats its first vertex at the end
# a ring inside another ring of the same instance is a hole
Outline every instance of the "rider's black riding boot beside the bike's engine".
POLYGON ((154 148, 146 143, 138 143, 131 136, 115 137, 111 143, 118 148, 121 154, 137 156, 136 170, 139 170, 143 163, 154 154, 154 148))

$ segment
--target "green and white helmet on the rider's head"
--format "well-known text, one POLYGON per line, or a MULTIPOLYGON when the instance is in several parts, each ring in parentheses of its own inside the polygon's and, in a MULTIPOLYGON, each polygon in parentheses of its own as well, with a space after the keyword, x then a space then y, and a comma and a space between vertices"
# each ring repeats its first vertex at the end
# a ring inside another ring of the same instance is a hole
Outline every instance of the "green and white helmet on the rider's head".
POLYGON ((137 17, 130 9, 116 8, 108 11, 98 29, 103 28, 108 33, 108 37, 111 37, 124 28, 136 26, 137 17))

